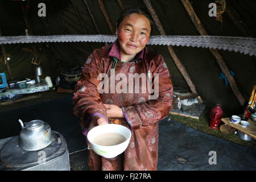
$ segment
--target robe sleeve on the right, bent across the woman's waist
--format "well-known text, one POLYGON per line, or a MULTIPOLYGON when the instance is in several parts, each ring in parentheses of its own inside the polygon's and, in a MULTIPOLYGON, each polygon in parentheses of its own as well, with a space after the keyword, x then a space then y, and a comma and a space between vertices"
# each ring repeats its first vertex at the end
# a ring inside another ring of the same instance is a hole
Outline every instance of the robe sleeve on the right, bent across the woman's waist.
POLYGON ((162 56, 159 55, 156 58, 155 66, 151 67, 151 71, 152 76, 154 73, 158 73, 159 76, 158 84, 156 80, 152 81, 154 89, 159 85, 158 98, 142 102, 141 104, 122 107, 123 115, 132 130, 137 130, 160 121, 167 117, 171 110, 173 86, 170 73, 162 56))

